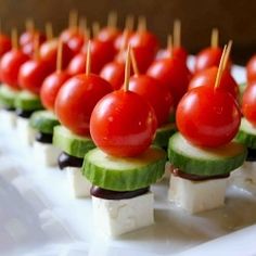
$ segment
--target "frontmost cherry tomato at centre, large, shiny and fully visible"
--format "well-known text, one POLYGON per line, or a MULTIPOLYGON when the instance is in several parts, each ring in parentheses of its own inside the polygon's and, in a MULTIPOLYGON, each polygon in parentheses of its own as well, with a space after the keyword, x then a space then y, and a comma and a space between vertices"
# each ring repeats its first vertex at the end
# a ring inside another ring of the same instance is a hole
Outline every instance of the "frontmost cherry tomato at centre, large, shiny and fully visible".
POLYGON ((152 143, 156 130, 152 106, 131 91, 105 95, 91 114, 90 132, 94 143, 115 156, 136 156, 152 143))

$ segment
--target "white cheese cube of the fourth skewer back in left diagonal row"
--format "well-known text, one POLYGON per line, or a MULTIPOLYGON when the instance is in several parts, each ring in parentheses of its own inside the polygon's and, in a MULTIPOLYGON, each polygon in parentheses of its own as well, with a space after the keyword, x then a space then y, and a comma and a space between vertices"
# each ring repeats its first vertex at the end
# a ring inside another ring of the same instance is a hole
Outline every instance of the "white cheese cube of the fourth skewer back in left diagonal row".
POLYGON ((29 126, 29 119, 17 116, 16 133, 20 142, 24 145, 31 145, 36 131, 29 126))

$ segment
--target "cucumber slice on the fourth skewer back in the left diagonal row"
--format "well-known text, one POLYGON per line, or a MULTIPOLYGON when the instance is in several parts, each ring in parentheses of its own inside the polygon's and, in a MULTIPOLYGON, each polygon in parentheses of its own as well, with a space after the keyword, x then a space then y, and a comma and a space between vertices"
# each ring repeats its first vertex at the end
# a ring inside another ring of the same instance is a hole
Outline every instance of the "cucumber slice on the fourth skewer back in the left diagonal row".
POLYGON ((21 91, 15 99, 15 107, 23 111, 42 110, 40 98, 28 91, 21 91))

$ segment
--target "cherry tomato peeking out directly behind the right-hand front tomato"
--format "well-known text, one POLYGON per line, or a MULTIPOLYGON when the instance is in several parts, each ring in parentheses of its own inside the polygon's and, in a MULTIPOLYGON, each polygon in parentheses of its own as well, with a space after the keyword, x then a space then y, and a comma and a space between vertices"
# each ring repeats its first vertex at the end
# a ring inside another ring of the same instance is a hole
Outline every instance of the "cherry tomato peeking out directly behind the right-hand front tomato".
MULTIPOLYGON (((218 73, 218 67, 213 66, 207 69, 204 69, 202 72, 199 72, 192 77, 190 84, 189 84, 189 90, 200 87, 200 86, 215 86, 215 80, 217 77, 218 73)), ((231 76, 229 71, 225 71, 220 84, 219 84, 219 89, 226 90, 230 92, 234 99, 239 99, 239 86, 234 78, 231 76)))

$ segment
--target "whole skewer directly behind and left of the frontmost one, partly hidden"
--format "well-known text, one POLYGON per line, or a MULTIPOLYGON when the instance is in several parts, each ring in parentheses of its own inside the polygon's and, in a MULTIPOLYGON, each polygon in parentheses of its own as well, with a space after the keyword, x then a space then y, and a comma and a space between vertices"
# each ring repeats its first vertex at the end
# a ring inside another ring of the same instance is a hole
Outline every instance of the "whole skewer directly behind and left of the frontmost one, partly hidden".
MULTIPOLYGON (((55 100, 55 114, 62 124, 54 128, 53 144, 63 153, 59 167, 64 169, 76 197, 89 196, 91 183, 81 175, 85 154, 94 148, 89 121, 97 102, 112 91, 112 86, 90 73, 90 43, 87 52, 87 72, 68 79, 55 100)), ((93 60, 92 60, 93 61, 93 60)))

